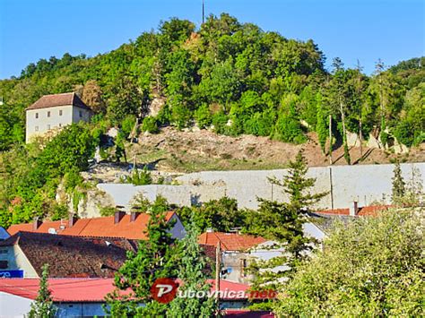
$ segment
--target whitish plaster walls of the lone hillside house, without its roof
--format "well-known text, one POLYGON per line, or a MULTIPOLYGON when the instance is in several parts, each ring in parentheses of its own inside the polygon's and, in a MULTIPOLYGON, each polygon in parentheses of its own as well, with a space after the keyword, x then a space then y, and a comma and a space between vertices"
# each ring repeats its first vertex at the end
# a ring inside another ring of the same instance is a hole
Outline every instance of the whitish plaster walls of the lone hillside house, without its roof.
POLYGON ((72 105, 27 110, 26 142, 30 142, 35 136, 43 135, 49 130, 58 130, 65 125, 78 123, 81 120, 88 122, 90 116, 91 112, 88 109, 72 105), (62 115, 60 115, 60 111, 62 111, 62 115), (82 116, 80 116, 80 111, 82 116), (39 117, 37 118, 37 116, 39 117))

